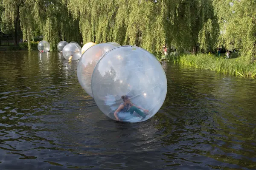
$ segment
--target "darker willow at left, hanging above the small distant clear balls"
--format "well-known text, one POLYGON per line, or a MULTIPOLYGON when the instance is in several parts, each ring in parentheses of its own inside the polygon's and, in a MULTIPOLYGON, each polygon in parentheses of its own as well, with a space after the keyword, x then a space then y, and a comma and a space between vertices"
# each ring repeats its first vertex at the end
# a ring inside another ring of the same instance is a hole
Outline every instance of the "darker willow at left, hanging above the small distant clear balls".
MULTIPOLYGON (((27 20, 23 21, 23 36, 31 37, 31 30, 37 26, 44 40, 49 41, 51 51, 57 50, 57 44, 61 40, 81 42, 79 21, 74 20, 61 0, 26 0, 27 20), (31 20, 35 21, 34 26, 31 20)), ((25 38, 24 37, 24 38, 25 38)))

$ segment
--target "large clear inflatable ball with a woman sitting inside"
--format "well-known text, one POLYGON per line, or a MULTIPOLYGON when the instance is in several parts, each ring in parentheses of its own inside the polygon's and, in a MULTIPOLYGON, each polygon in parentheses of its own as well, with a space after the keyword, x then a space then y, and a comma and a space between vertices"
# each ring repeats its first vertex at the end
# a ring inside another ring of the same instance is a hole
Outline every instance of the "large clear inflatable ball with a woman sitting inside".
POLYGON ((121 46, 106 53, 92 75, 93 98, 108 117, 145 121, 161 108, 167 79, 160 62, 143 48, 121 46))

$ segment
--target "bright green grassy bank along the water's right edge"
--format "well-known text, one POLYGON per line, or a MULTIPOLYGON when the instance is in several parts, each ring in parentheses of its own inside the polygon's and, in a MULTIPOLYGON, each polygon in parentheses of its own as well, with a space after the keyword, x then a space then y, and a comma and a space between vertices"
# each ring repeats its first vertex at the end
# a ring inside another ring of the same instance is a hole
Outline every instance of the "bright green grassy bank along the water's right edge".
POLYGON ((166 60, 181 65, 216 71, 241 77, 256 77, 256 63, 247 64, 239 58, 226 59, 214 54, 184 54, 181 56, 168 56, 166 60))

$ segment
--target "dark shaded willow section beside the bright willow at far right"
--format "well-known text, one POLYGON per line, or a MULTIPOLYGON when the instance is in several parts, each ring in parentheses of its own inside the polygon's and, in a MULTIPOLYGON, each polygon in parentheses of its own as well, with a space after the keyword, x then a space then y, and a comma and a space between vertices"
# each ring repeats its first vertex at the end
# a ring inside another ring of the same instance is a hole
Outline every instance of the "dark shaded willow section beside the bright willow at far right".
POLYGON ((207 52, 215 46, 218 23, 212 0, 166 0, 166 41, 179 52, 207 52))

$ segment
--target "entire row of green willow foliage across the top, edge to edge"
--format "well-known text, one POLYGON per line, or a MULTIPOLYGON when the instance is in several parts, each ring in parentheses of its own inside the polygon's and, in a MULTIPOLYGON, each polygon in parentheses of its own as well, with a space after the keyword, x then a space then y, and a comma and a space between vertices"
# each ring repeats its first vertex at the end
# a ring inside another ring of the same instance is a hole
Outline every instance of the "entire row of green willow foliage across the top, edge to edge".
POLYGON ((162 46, 196 53, 230 44, 244 60, 256 55, 256 2, 251 0, 2 0, 1 28, 18 43, 41 34, 60 40, 137 45, 161 56, 162 46), (217 43, 216 43, 217 42, 217 43))

